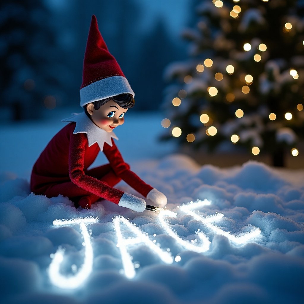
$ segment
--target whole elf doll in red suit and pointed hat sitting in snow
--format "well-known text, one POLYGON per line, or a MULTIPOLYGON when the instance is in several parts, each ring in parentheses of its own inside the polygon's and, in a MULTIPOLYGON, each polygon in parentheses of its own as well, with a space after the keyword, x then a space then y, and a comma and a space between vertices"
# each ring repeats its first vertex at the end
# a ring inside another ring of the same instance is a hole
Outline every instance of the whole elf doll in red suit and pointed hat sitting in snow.
POLYGON ((143 212, 144 199, 113 188, 124 180, 145 198, 164 207, 166 196, 146 184, 126 164, 114 140, 113 130, 124 123, 124 115, 134 106, 134 92, 98 30, 93 15, 85 50, 80 105, 84 112, 64 122, 36 161, 31 175, 31 191, 47 197, 69 197, 82 208, 103 198, 119 206, 143 212), (109 164, 89 169, 99 151, 109 164))

